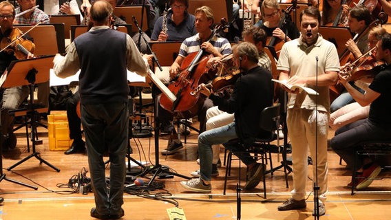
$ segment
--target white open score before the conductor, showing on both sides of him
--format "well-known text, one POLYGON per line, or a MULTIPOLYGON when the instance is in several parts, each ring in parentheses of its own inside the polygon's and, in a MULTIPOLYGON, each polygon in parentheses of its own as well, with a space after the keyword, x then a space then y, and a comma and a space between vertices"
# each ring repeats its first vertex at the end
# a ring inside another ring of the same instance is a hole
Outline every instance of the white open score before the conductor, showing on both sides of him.
MULTIPOLYGON (((71 83, 78 83, 78 74, 80 74, 80 70, 73 76, 60 78, 54 74, 53 69, 50 69, 50 86, 54 87, 59 85, 70 85, 71 83)), ((129 70, 127 71, 127 80, 129 83, 147 83, 145 76, 140 76, 135 72, 130 72, 129 70)))

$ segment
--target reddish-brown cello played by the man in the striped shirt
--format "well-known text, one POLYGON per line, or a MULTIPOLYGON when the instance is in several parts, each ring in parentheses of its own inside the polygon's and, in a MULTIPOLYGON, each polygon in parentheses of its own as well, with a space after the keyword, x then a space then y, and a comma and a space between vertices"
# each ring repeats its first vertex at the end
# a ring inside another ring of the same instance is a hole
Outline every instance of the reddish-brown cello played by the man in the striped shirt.
MULTIPOLYGON (((224 26, 225 20, 222 19, 222 22, 215 26, 206 42, 211 41, 224 26)), ((207 68, 207 62, 212 57, 212 54, 204 53, 203 50, 187 55, 182 61, 178 80, 168 86, 168 89, 175 94, 176 100, 172 102, 166 94, 162 94, 160 106, 171 113, 175 113, 179 118, 193 118, 197 115, 205 98, 200 96, 199 93, 195 93, 195 91, 198 85, 207 83, 214 78, 215 72, 207 68)))

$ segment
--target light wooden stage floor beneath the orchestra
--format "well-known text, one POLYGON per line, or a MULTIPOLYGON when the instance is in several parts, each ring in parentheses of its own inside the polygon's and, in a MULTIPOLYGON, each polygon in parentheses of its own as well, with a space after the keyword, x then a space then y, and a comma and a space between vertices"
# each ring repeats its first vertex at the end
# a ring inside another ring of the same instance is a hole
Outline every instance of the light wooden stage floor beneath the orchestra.
MULTIPOLYGON (((195 122, 195 127, 198 127, 195 122)), ((94 207, 92 192, 87 195, 72 193, 69 188, 59 188, 59 184, 67 184, 73 175, 77 175, 83 168, 88 170, 87 155, 64 155, 63 151, 49 151, 47 130, 38 128, 42 145, 36 146, 36 151, 50 164, 61 171, 58 173, 46 164, 39 164, 35 157, 28 159, 19 166, 8 171, 6 168, 30 155, 27 152, 24 129, 17 131, 17 148, 3 153, 3 174, 6 178, 21 181, 25 184, 38 187, 38 190, 15 184, 3 179, 0 181, 0 193, 5 201, 0 206, 0 219, 94 219, 89 216, 89 210, 94 207)), ((329 136, 332 137, 333 131, 329 136)), ((182 136, 183 137, 183 136, 182 136)), ((192 131, 188 136, 187 144, 178 153, 170 156, 159 155, 159 162, 169 166, 171 171, 189 176, 191 171, 199 168, 197 159, 197 137, 192 131)), ((159 148, 167 146, 167 136, 159 138, 159 148)), ((154 137, 131 139, 134 153, 132 158, 155 163, 154 137), (139 153, 140 152, 140 153, 139 153)), ((391 181, 384 178, 374 180, 372 185, 363 191, 350 195, 346 185, 350 181, 350 172, 345 165, 339 165, 339 157, 328 151, 328 201, 326 215, 321 219, 391 219, 388 208, 391 205, 391 181)), ((220 153, 221 159, 224 152, 220 153)), ((278 164, 273 156, 273 162, 278 164)), ((310 166, 310 170, 312 166, 310 166)), ((222 195, 224 186, 225 167, 219 168, 220 176, 212 181, 211 194, 185 192, 180 186, 182 177, 172 179, 158 179, 154 182, 165 184, 164 190, 151 192, 152 199, 125 194, 125 217, 123 219, 169 219, 167 208, 175 207, 178 203, 186 219, 237 219, 237 202, 235 186, 237 184, 238 164, 233 162, 232 177, 229 177, 227 194, 222 195), (160 193, 158 193, 160 192, 160 193), (159 200, 159 199, 164 199, 159 200)), ((245 168, 242 166, 242 173, 245 168)), ((109 168, 107 168, 108 174, 109 168)), ((307 191, 313 188, 312 172, 309 172, 307 191)), ((381 177, 388 177, 389 172, 381 173, 381 177)), ((89 176, 89 173, 87 173, 89 176)), ((145 182, 147 178, 142 178, 145 182)), ((277 170, 273 176, 266 175, 267 199, 263 197, 262 184, 251 191, 241 193, 242 219, 314 219, 312 216, 313 196, 307 200, 307 208, 286 212, 277 211, 277 206, 290 197, 293 181, 289 175, 289 188, 286 188, 284 173, 277 170)), ((244 185, 244 175, 241 180, 244 185)), ((140 193, 140 191, 138 191, 140 193)))

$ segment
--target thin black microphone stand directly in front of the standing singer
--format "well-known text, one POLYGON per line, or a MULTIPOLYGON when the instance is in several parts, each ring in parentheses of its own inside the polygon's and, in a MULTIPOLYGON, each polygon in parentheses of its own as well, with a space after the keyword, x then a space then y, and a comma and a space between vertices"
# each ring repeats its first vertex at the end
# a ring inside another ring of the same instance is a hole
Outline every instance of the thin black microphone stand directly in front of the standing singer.
MULTIPOLYGON (((319 61, 319 58, 318 56, 315 56, 316 60, 317 60, 317 65, 316 65, 316 78, 315 78, 315 88, 316 88, 316 91, 318 91, 318 79, 317 79, 317 75, 318 75, 318 61, 319 61)), ((318 135, 317 135, 317 104, 318 104, 318 96, 317 95, 315 97, 315 123, 316 123, 316 126, 315 126, 315 181, 314 181, 314 213, 313 213, 313 216, 314 216, 314 219, 319 219, 319 186, 317 186, 317 181, 318 181, 318 174, 317 174, 317 154, 318 154, 318 144, 317 144, 317 140, 318 140, 318 135)))

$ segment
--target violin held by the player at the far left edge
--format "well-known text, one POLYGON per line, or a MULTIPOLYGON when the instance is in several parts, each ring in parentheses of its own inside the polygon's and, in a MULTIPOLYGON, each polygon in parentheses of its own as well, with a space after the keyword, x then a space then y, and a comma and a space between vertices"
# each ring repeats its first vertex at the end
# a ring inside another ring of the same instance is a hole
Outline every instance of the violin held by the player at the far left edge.
POLYGON ((18 28, 12 28, 4 32, 0 43, 0 52, 14 54, 18 60, 27 58, 29 53, 34 53, 35 45, 32 41, 23 38, 23 33, 18 28))

